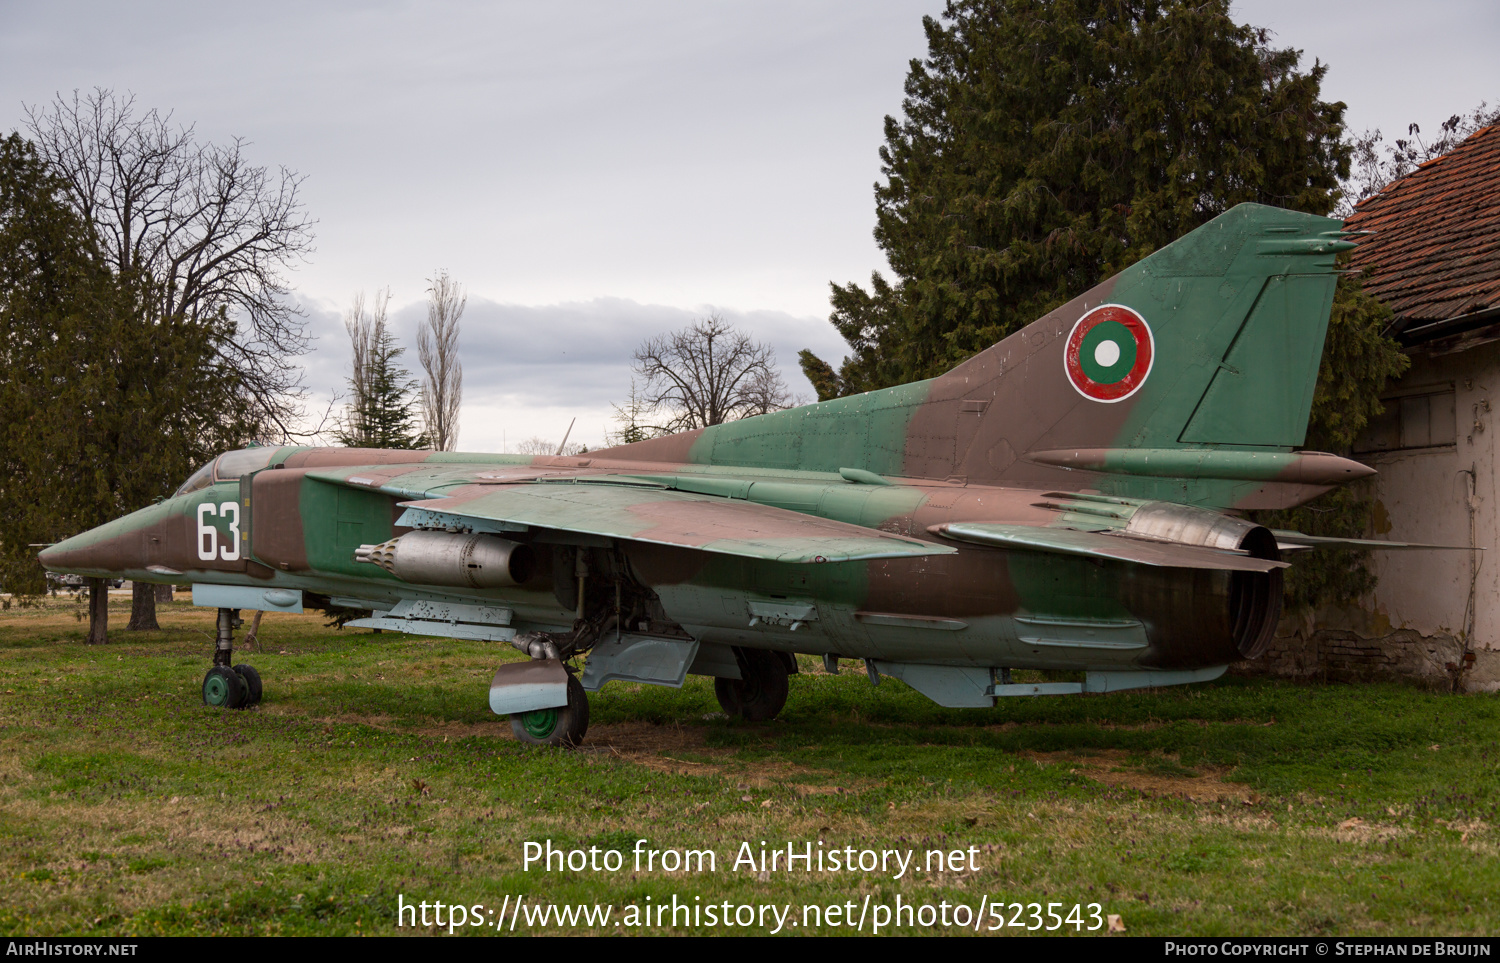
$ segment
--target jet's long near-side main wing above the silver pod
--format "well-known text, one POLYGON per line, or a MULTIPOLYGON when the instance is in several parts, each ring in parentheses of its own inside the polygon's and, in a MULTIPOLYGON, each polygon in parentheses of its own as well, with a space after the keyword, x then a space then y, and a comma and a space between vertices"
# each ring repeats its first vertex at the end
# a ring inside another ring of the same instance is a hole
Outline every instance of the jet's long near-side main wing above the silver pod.
POLYGON ((486 484, 406 508, 507 526, 628 538, 784 562, 951 555, 956 549, 738 498, 626 484, 486 484))

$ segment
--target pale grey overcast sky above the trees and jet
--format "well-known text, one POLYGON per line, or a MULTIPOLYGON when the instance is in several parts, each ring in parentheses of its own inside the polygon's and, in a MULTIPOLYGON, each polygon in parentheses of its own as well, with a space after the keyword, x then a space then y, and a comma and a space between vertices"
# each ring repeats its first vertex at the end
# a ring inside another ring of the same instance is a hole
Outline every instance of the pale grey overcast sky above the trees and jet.
MULTIPOLYGON (((1242 0, 1329 64, 1352 129, 1500 99, 1500 4, 1242 0)), ((645 338, 711 309, 828 360, 828 282, 867 280, 882 118, 934 0, 33 3, 0 0, 0 129, 58 92, 130 92, 304 177, 316 250, 290 280, 326 399, 340 314, 392 292, 405 344, 447 268, 464 316, 460 447, 598 446, 645 338)), ((414 356, 414 350, 410 351, 414 356)), ((416 368, 416 357, 406 358, 416 368)), ((314 405, 316 406, 316 405, 314 405)))

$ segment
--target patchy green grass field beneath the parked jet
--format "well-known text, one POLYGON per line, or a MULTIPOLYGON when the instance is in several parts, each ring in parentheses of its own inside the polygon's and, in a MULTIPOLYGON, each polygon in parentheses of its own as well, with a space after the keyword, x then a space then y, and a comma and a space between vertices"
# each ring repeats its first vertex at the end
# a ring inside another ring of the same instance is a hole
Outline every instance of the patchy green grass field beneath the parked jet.
MULTIPOLYGON (((802 660, 772 723, 726 720, 696 676, 614 682, 584 750, 537 750, 489 712, 495 664, 519 657, 500 645, 268 615, 237 651, 264 704, 213 711, 198 690, 213 612, 172 603, 164 632, 129 633, 128 603, 111 603, 104 646, 82 644, 70 600, 0 614, 8 934, 448 932, 414 912, 398 927, 398 900, 464 904, 486 926, 454 932, 474 934, 508 932, 518 900, 612 912, 603 927, 519 915, 518 933, 777 928, 615 926, 674 897, 790 906, 794 934, 855 932, 802 906, 873 906, 868 933, 897 898, 950 903, 951 926, 914 914, 882 932, 974 933, 957 904, 994 902, 994 934, 1024 933, 1030 903, 1083 904, 1066 934, 1107 932, 1108 915, 1131 934, 1500 930, 1494 696, 1228 678, 944 710, 802 660), (632 872, 640 838, 711 849, 717 868, 632 872), (526 872, 528 840, 621 850, 624 867, 526 872), (916 866, 732 868, 762 840, 915 850, 916 866), (932 849, 978 868, 921 872, 932 849)), ((981 912, 978 932, 993 921, 981 912)))

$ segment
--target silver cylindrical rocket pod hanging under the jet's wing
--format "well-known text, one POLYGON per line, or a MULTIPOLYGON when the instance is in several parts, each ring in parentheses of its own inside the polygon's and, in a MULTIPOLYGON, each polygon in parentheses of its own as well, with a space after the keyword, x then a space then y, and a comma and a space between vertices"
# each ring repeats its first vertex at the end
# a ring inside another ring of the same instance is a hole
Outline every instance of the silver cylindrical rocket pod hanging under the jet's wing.
POLYGON ((531 549, 489 534, 411 531, 380 544, 362 544, 354 561, 380 566, 402 582, 506 588, 534 570, 531 549))

